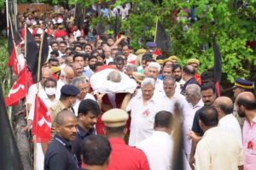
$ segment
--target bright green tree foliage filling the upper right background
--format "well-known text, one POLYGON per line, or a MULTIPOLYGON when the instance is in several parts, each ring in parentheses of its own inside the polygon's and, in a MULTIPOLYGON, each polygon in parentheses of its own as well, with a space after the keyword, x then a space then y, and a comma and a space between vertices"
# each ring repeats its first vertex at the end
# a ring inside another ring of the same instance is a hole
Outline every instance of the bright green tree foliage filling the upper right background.
MULTIPOLYGON (((19 2, 32 0, 18 0, 19 2)), ((0 0, 0 4, 3 0, 0 0)), ((33 1, 35 2, 35 1, 33 1)), ((156 20, 160 20, 172 40, 169 54, 175 54, 184 64, 189 58, 201 61, 200 72, 212 68, 212 34, 216 35, 223 60, 223 81, 234 82, 236 77, 252 78, 256 55, 247 42, 256 40, 256 0, 39 0, 43 3, 81 3, 84 8, 94 3, 118 6, 132 3, 127 20, 120 31, 131 37, 131 46, 143 48, 144 42, 154 40, 156 20), (186 18, 188 9, 195 8, 196 21, 186 18), (179 20, 174 20, 177 11, 179 20)), ((91 20, 97 26, 99 18, 91 20)), ((104 26, 113 27, 114 20, 103 19, 104 26)), ((111 31, 110 31, 111 32, 111 31)), ((113 32, 113 31, 112 31, 113 32)), ((255 69, 254 69, 255 70, 255 69)))

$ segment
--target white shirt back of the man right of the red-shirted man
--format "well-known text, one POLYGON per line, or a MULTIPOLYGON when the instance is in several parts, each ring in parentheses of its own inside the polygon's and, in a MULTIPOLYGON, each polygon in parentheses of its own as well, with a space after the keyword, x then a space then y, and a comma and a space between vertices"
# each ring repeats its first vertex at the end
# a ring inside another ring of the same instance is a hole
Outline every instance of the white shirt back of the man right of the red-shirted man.
POLYGON ((151 170, 171 169, 173 139, 168 133, 154 131, 150 137, 137 144, 137 148, 146 154, 151 170))

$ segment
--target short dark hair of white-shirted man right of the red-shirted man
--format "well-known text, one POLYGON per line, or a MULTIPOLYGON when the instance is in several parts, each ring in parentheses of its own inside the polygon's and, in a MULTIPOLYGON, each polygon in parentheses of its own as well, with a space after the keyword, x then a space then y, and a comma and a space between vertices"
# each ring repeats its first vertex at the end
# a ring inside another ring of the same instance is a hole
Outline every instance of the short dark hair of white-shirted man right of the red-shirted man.
POLYGON ((159 111, 154 116, 154 127, 171 127, 172 113, 169 111, 159 111))

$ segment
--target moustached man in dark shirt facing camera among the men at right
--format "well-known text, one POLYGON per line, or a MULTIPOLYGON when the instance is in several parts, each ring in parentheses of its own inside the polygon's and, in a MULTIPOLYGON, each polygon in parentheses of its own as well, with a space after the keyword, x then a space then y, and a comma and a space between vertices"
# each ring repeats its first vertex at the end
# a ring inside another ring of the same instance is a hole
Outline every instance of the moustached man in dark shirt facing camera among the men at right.
MULTIPOLYGON (((204 105, 213 105, 214 100, 216 99, 216 92, 215 88, 212 84, 203 84, 201 86, 201 99, 204 103, 204 105)), ((189 158, 189 164, 192 169, 194 169, 194 163, 195 163, 195 148, 198 141, 203 136, 203 130, 201 129, 199 125, 199 113, 201 110, 198 110, 195 112, 194 121, 192 125, 192 131, 191 134, 196 134, 198 139, 192 139, 192 146, 191 146, 191 152, 190 152, 190 158, 189 158)))

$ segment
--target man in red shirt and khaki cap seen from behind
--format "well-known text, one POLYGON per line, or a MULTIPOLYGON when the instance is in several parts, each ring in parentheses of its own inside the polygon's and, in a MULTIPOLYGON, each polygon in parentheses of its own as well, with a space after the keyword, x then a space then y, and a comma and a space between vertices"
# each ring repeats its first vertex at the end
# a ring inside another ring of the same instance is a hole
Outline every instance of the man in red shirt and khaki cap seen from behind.
POLYGON ((149 170, 148 159, 143 151, 125 144, 123 137, 127 132, 127 120, 128 114, 120 109, 112 109, 102 115, 105 133, 112 148, 108 170, 149 170))

